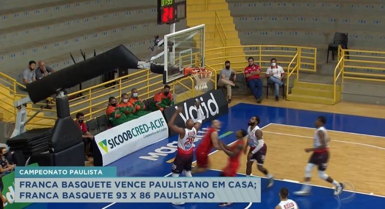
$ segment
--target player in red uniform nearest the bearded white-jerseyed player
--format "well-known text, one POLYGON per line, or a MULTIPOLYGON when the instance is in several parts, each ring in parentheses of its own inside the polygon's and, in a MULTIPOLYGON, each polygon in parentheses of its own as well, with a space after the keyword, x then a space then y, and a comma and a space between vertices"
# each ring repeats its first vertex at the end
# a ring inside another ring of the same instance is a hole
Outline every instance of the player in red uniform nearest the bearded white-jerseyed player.
MULTIPOLYGON (((246 130, 240 129, 235 132, 237 141, 232 146, 227 146, 226 144, 219 141, 219 147, 229 156, 227 166, 223 169, 221 176, 224 177, 236 177, 237 171, 239 168, 239 155, 242 153, 242 149, 245 146, 245 136, 247 135, 246 130)), ((230 206, 232 203, 221 203, 220 207, 230 206)))

